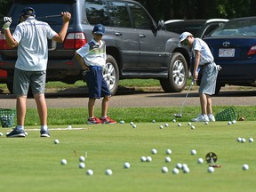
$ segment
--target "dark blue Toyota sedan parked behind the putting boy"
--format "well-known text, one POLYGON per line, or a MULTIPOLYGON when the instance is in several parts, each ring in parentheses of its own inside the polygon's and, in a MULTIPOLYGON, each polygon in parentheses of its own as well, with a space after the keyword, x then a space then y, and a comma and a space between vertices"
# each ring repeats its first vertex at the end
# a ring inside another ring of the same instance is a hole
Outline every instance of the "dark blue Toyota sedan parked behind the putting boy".
POLYGON ((256 17, 229 20, 204 41, 210 46, 216 64, 222 68, 216 93, 225 84, 256 85, 256 17))

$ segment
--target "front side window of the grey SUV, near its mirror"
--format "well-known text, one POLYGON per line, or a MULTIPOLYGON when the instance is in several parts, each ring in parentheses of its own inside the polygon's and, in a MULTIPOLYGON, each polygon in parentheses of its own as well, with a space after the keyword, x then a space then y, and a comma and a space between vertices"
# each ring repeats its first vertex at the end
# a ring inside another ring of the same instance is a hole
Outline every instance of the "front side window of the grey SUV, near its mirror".
POLYGON ((144 10, 138 4, 128 5, 132 12, 134 27, 140 29, 150 29, 152 27, 152 20, 148 16, 147 12, 144 12, 144 10))

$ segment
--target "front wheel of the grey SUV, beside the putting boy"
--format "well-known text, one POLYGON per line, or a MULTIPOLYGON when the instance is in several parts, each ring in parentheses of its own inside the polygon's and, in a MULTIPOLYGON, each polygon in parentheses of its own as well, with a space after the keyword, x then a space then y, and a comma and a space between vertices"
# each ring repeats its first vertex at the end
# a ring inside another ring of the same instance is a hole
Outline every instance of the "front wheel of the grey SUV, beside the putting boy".
POLYGON ((180 52, 175 52, 168 69, 168 78, 161 78, 160 84, 164 92, 182 92, 187 84, 187 76, 187 61, 180 52))

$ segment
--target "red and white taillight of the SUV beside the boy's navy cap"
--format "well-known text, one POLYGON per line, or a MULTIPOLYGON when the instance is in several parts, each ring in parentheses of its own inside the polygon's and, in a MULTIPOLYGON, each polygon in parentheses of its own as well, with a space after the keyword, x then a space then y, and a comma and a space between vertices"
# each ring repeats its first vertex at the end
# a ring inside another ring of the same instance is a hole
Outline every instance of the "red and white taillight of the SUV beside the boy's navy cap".
POLYGON ((86 44, 84 33, 69 33, 64 40, 64 49, 79 49, 86 44))

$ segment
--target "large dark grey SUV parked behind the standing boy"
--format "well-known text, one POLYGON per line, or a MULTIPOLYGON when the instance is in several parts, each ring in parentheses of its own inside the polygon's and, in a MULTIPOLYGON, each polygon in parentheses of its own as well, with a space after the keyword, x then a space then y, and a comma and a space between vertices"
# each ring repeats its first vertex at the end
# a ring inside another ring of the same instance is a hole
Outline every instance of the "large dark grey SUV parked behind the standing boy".
MULTIPOLYGON (((164 92, 181 92, 187 84, 189 53, 177 46, 179 35, 165 31, 164 21, 158 24, 145 8, 132 0, 14 0, 8 16, 11 30, 16 27, 20 11, 31 6, 36 19, 48 22, 59 32, 60 12, 71 12, 72 19, 63 44, 49 41, 47 81, 74 84, 82 79, 81 68, 73 59, 74 52, 92 38, 92 28, 106 27, 103 40, 107 44, 107 67, 104 76, 112 94, 119 79, 159 79, 164 92)), ((7 70, 7 85, 12 92, 13 68, 17 50, 10 50, 0 38, 0 69, 7 70)))

